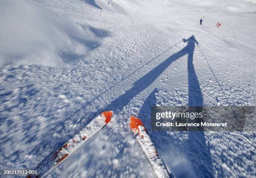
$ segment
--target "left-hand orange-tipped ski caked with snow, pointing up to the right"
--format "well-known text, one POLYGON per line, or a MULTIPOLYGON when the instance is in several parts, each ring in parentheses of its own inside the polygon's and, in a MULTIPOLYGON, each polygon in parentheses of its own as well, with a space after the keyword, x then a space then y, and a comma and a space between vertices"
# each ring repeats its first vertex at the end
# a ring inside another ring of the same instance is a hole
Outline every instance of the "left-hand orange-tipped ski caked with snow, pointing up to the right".
POLYGON ((33 170, 37 171, 37 175, 28 175, 27 178, 31 177, 44 177, 51 170, 56 168, 61 162, 63 162, 69 155, 74 153, 84 142, 86 142, 90 137, 95 135, 100 131, 105 125, 110 122, 113 116, 113 111, 102 112, 99 116, 95 117, 88 125, 86 125, 79 133, 74 135, 74 137, 68 140, 59 150, 57 150, 53 155, 50 155, 44 159, 39 165, 37 165, 33 170))

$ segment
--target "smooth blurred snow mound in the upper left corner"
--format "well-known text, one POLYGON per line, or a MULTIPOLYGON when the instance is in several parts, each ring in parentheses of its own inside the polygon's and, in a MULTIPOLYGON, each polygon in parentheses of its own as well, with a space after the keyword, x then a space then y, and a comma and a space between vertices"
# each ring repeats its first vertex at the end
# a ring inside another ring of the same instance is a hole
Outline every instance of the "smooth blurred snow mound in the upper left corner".
POLYGON ((58 66, 98 45, 87 26, 27 1, 0 1, 0 66, 58 66))

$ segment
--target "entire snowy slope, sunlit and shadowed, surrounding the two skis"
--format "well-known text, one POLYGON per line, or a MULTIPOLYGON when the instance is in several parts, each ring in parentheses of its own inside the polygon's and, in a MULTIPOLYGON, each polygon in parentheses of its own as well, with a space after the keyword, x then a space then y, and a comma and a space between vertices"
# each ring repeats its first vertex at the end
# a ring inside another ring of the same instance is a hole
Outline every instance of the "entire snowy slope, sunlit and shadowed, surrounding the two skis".
POLYGON ((254 132, 150 122, 151 106, 255 106, 255 0, 109 3, 0 0, 0 170, 35 167, 113 110, 48 177, 154 177, 131 115, 177 178, 255 177, 254 132))

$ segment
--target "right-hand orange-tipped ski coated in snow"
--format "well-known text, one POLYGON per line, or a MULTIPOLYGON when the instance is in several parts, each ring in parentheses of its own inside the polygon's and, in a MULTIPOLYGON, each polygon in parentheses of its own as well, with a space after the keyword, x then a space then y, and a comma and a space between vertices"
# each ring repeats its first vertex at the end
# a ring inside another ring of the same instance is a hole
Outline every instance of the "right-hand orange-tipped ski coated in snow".
POLYGON ((135 116, 130 117, 130 127, 133 131, 133 134, 138 140, 139 144, 146 157, 148 158, 149 163, 154 169, 158 178, 169 178, 170 174, 163 162, 163 160, 159 157, 156 148, 151 141, 146 128, 144 127, 141 120, 135 116))

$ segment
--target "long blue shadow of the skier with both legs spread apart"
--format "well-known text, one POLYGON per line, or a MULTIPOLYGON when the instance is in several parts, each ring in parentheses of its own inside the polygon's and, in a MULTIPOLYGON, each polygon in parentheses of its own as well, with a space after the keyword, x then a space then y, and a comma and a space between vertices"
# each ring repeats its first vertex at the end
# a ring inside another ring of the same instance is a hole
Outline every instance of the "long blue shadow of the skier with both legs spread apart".
MULTIPOLYGON (((167 58, 161 64, 152 69, 148 74, 138 79, 133 84, 133 87, 125 92, 123 95, 115 99, 111 104, 109 104, 106 109, 113 110, 114 113, 118 113, 123 109, 137 94, 142 92, 148 86, 150 86, 163 72, 167 67, 172 64, 178 58, 188 55, 187 59, 187 71, 188 71, 188 95, 189 95, 189 106, 203 106, 203 96, 202 91, 200 89, 200 84, 195 73, 195 67, 193 64, 193 53, 195 50, 195 44, 199 44, 195 37, 192 35, 188 39, 183 39, 184 43, 187 42, 187 46, 185 46, 181 51, 174 53, 172 56, 167 58)), ((147 100, 146 100, 147 101, 147 100)), ((194 107, 193 107, 194 108, 194 107)), ((143 109, 143 108, 142 108, 143 109)), ((197 107, 197 112, 200 112, 202 107, 197 107)), ((190 109, 189 109, 190 110, 190 109)), ((150 113, 150 108, 148 108, 148 113, 150 113)), ((141 113, 141 112, 140 112, 141 113)), ((141 114, 139 113, 139 117, 141 114)), ((145 112, 143 112, 145 113, 145 112)), ((148 117, 149 119, 150 117, 148 117)), ((142 119, 142 118, 141 118, 142 119)), ((144 119, 142 119, 144 120, 144 119)), ((146 123, 146 122, 144 122, 146 123)), ((202 128, 201 128, 202 129, 202 128)), ((180 134, 183 134, 180 132, 180 134)), ((205 134, 204 132, 187 132, 188 139, 184 142, 181 142, 181 145, 177 145, 183 147, 186 153, 187 160, 190 162, 192 170, 194 170, 194 175, 196 177, 214 177, 213 176, 213 168, 212 168, 212 159, 209 147, 206 144, 205 134)), ((157 140, 164 141, 164 135, 161 133, 156 133, 154 136, 157 140)), ((167 136, 167 135, 166 135, 167 136)), ((154 140, 153 139, 153 142, 154 140)), ((165 140, 166 141, 166 140, 165 140)), ((166 141, 167 142, 167 141, 166 141)), ((155 143, 155 142, 154 142, 155 143)), ((161 142, 158 142, 161 143, 161 142)), ((169 142, 168 143, 172 143, 169 142)), ((162 145, 157 145, 156 148, 162 147, 162 145)), ((168 147, 168 145, 166 145, 168 147)), ((170 150, 171 151, 171 150, 170 150)), ((168 165, 167 165, 168 166, 168 165)), ((179 170, 183 171, 183 170, 179 170)), ((188 177, 191 174, 181 174, 180 177, 188 177)), ((177 175, 177 177, 179 177, 177 175)))

